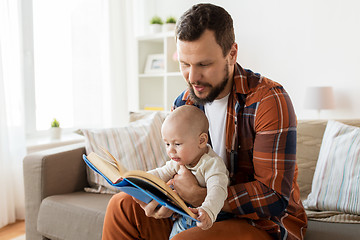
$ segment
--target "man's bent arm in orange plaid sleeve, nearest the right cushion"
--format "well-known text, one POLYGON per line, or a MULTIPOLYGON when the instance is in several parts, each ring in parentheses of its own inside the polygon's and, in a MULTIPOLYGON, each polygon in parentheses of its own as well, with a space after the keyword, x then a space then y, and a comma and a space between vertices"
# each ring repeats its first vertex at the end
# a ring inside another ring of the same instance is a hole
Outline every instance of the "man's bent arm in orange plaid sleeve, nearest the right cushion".
POLYGON ((255 118, 255 181, 230 186, 225 208, 258 219, 277 216, 288 205, 296 166, 296 116, 289 96, 274 87, 259 103, 255 118))

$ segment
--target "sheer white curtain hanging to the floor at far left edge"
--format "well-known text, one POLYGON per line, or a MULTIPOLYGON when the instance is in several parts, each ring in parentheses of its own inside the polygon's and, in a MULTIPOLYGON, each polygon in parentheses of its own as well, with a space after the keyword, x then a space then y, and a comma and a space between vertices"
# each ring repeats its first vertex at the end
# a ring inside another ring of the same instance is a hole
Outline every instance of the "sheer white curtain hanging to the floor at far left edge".
POLYGON ((0 1, 0 228, 25 218, 20 10, 19 0, 0 1))

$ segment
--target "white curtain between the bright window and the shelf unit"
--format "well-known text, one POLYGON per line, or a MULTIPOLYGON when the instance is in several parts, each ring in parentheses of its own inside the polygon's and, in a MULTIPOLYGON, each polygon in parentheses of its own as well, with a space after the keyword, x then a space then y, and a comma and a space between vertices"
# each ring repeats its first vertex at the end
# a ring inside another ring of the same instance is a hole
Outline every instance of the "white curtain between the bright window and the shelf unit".
MULTIPOLYGON (((134 81, 131 67, 134 65, 134 41, 132 23, 132 0, 105 1, 107 31, 104 34, 108 47, 107 60, 109 85, 104 89, 109 94, 109 116, 112 126, 128 123, 128 82, 134 81)), ((105 95, 105 94, 104 94, 105 95)))

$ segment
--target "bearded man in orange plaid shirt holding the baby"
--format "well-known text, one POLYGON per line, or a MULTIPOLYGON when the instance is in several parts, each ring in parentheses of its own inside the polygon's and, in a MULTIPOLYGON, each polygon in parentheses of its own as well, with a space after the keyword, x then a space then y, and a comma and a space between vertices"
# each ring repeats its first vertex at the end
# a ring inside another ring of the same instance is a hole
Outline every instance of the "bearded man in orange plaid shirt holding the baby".
MULTIPOLYGON (((222 210, 233 217, 172 239, 303 239, 307 218, 296 183, 296 117, 286 91, 236 63, 232 19, 221 7, 193 6, 179 19, 176 39, 189 87, 174 107, 194 104, 205 111, 211 144, 226 159, 231 177, 222 210)), ((206 189, 189 171, 173 183, 186 202, 201 205, 206 189)), ((115 195, 103 238, 167 239, 172 212, 156 206, 115 195)))

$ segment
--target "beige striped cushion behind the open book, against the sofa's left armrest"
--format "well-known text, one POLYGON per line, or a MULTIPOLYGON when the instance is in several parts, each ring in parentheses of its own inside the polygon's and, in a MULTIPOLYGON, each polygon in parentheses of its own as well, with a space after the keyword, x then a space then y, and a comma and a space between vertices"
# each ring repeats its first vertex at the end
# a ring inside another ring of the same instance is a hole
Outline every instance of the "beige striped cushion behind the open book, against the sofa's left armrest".
MULTIPOLYGON (((86 154, 95 152, 107 157, 98 146, 106 148, 128 170, 150 170, 166 162, 166 150, 161 137, 164 114, 154 112, 125 127, 81 129, 85 136, 86 154)), ((87 168, 90 192, 115 193, 99 174, 87 168)))

